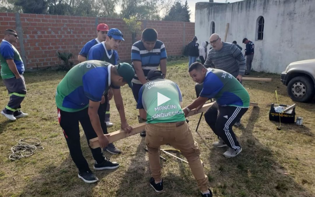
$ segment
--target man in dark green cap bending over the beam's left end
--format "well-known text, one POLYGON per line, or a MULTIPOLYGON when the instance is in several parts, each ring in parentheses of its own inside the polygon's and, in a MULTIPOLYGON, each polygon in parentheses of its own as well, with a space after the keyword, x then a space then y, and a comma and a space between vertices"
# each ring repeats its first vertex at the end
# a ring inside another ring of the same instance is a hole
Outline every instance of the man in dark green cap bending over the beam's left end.
MULTIPOLYGON (((72 160, 79 170, 78 177, 86 183, 95 183, 98 178, 92 173, 83 157, 78 123, 81 123, 88 143, 92 138, 99 138, 100 148, 90 148, 95 159, 93 169, 119 167, 118 163, 106 159, 101 150, 108 145, 108 139, 104 136, 107 131, 103 121, 104 113, 100 112, 99 106, 102 96, 110 87, 119 89, 124 84, 129 84, 131 87, 134 75, 135 70, 128 63, 113 66, 105 61, 92 60, 74 66, 57 86, 56 105, 59 124, 72 160)), ((120 99, 114 98, 114 100, 120 115, 121 128, 131 132, 132 127, 127 123, 121 96, 120 99)))

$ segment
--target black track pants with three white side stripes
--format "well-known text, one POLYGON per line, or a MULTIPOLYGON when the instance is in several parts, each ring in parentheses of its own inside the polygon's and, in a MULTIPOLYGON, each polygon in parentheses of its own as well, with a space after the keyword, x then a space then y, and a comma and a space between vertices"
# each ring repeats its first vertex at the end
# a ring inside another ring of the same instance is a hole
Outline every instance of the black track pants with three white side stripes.
POLYGON ((234 123, 241 119, 248 108, 219 106, 215 102, 204 114, 204 119, 215 135, 221 137, 226 145, 235 150, 241 149, 232 130, 234 123))

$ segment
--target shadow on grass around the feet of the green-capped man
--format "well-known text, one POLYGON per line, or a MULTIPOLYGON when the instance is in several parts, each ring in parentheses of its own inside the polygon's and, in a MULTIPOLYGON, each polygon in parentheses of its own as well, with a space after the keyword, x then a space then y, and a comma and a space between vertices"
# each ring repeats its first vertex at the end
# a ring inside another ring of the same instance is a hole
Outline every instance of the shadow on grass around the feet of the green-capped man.
MULTIPOLYGON (((62 143, 66 144, 66 140, 63 140, 64 141, 62 143)), ((103 171, 93 170, 94 159, 87 145, 87 140, 84 134, 81 135, 80 142, 83 155, 88 161, 90 169, 100 181, 107 175, 114 173, 117 169, 119 169, 117 168, 113 170, 103 171)), ((100 181, 89 184, 79 179, 77 166, 74 164, 68 151, 66 155, 66 158, 63 159, 63 162, 60 165, 55 165, 54 161, 51 161, 51 163, 49 163, 39 171, 39 176, 32 176, 30 180, 26 180, 28 184, 18 196, 91 196, 93 188, 97 187, 100 181)), ((21 160, 21 162, 22 165, 23 161, 21 160)), ((34 169, 34 171, 37 170, 34 169)))

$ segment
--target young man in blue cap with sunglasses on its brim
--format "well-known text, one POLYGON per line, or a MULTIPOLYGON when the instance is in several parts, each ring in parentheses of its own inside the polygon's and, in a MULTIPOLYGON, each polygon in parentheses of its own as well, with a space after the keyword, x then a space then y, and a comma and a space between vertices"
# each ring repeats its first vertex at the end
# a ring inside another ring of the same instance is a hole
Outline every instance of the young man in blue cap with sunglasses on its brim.
MULTIPOLYGON (((108 31, 106 40, 104 42, 95 44, 90 50, 88 55, 88 60, 100 60, 111 63, 112 65, 117 65, 117 56, 118 53, 116 49, 118 49, 121 41, 124 41, 123 34, 119 29, 112 28, 108 31)), ((112 99, 112 96, 121 98, 120 89, 114 90, 111 88, 108 91, 108 96, 105 96, 105 103, 101 103, 100 107, 102 111, 106 111, 105 113, 105 123, 107 127, 112 126, 113 124, 110 122, 110 104, 109 100, 112 99)), ((107 151, 111 154, 120 154, 121 151, 115 147, 113 143, 108 144, 107 147, 104 148, 104 151, 107 151)))

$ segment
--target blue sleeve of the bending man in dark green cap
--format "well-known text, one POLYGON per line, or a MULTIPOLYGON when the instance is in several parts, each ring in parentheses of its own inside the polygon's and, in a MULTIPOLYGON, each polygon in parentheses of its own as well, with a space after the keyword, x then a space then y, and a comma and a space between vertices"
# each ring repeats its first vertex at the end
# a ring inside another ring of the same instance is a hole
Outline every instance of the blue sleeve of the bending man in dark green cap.
POLYGON ((104 67, 96 67, 83 75, 84 94, 92 101, 101 101, 106 88, 106 75, 108 74, 107 72, 102 72, 102 69, 104 67))

